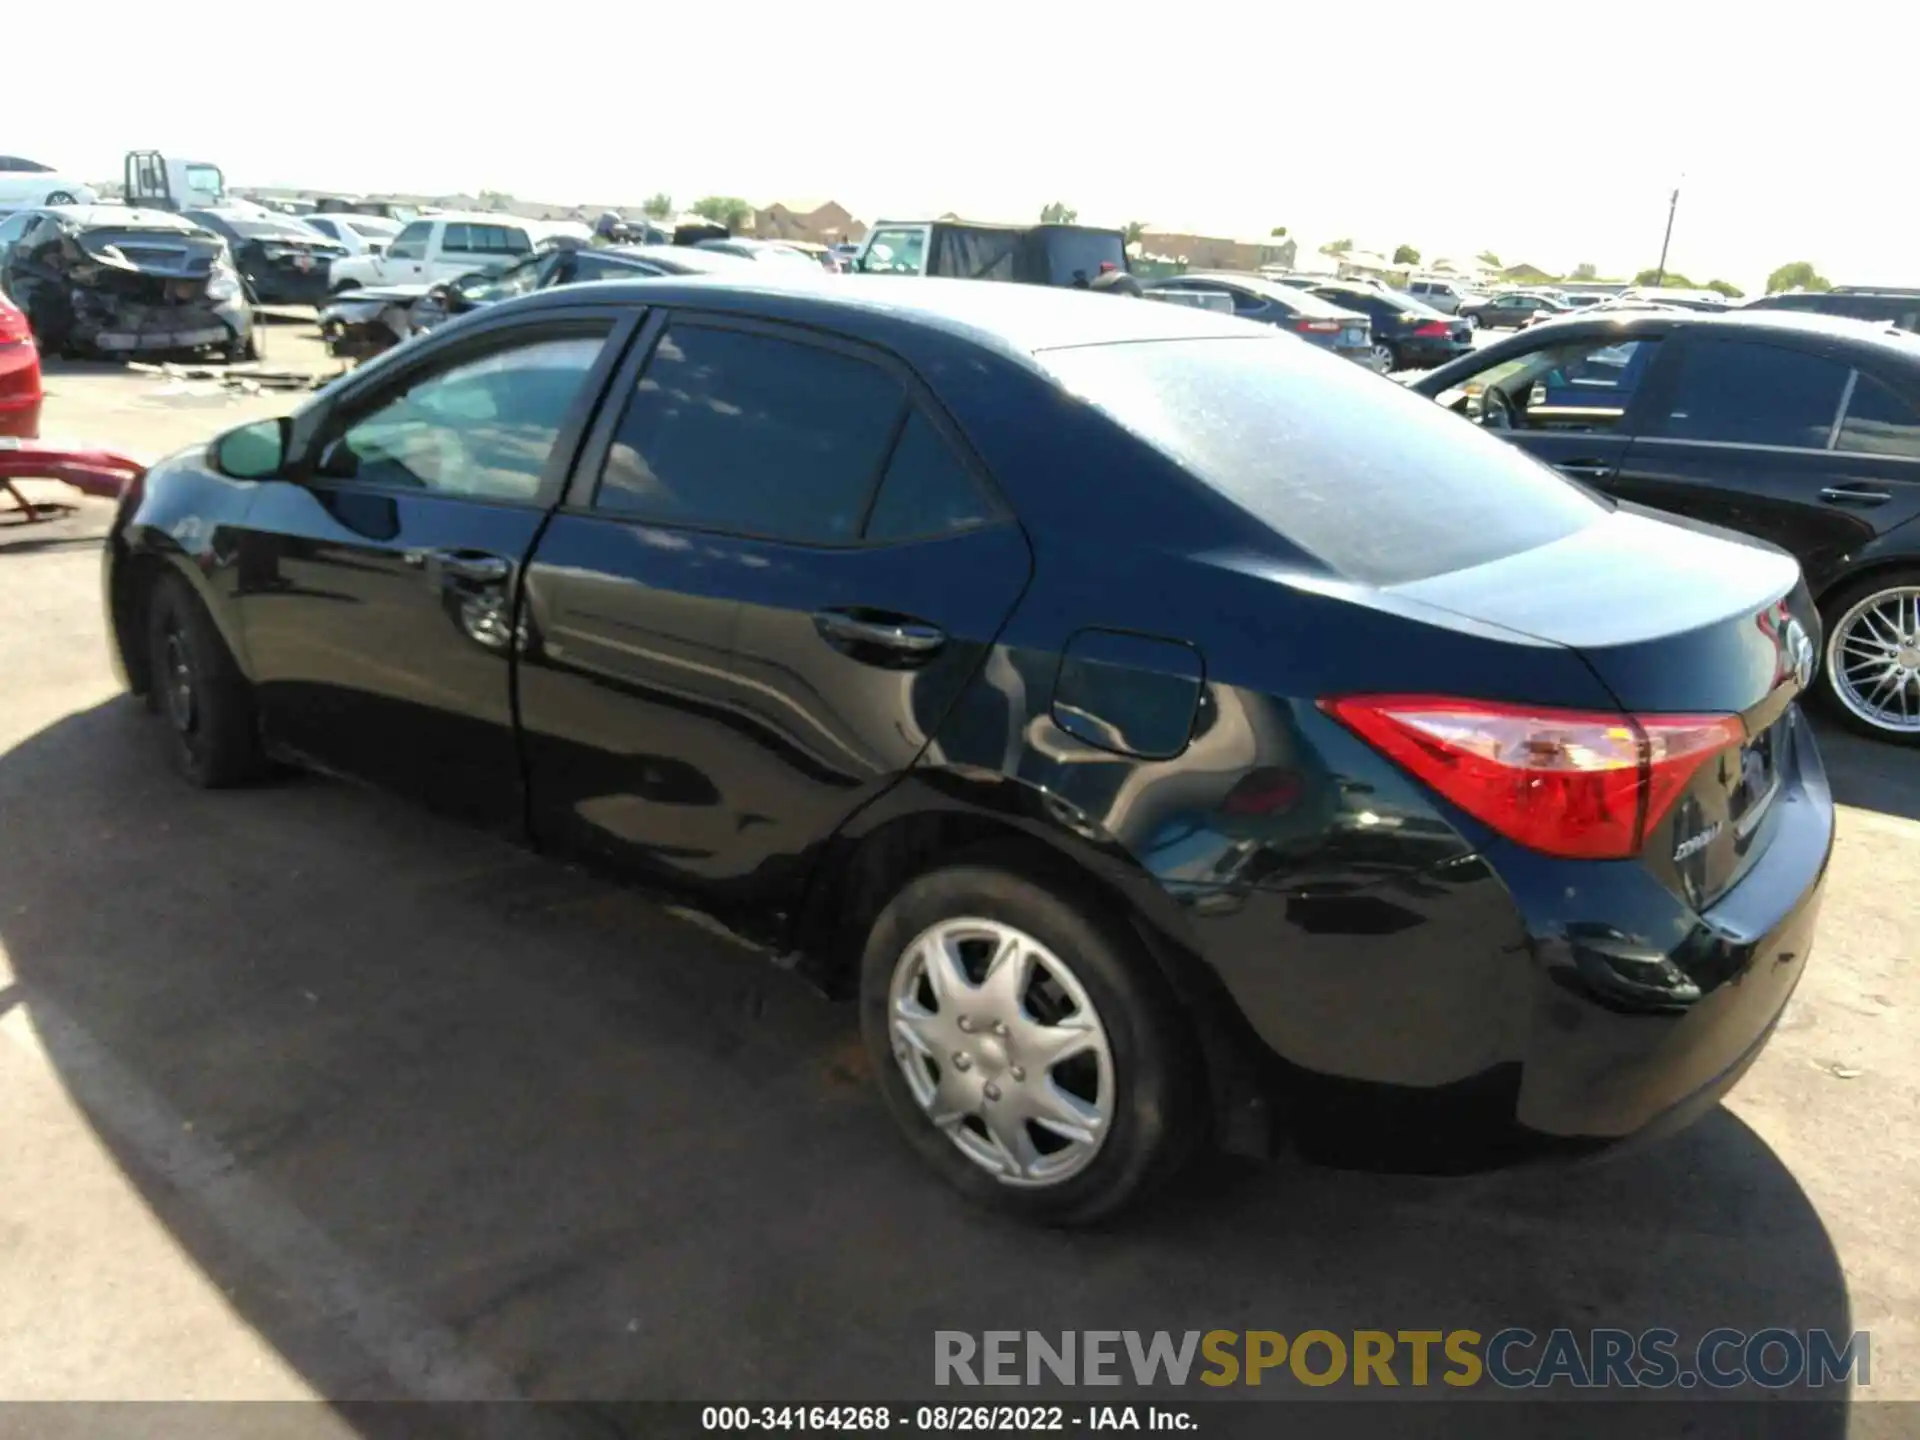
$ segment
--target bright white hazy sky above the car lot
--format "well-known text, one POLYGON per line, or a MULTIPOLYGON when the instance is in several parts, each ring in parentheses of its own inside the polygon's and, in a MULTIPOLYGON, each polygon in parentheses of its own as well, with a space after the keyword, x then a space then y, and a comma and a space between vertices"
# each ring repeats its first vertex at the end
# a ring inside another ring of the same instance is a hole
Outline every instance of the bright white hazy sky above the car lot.
POLYGON ((0 148, 84 179, 159 148, 242 186, 835 198, 866 221, 1064 200, 1092 223, 1286 225, 1308 248, 1601 273, 1659 259, 1678 182, 1668 267, 1695 280, 1753 288, 1811 259, 1836 282, 1920 284, 1920 6, 1125 13, 21 2, 0 148))

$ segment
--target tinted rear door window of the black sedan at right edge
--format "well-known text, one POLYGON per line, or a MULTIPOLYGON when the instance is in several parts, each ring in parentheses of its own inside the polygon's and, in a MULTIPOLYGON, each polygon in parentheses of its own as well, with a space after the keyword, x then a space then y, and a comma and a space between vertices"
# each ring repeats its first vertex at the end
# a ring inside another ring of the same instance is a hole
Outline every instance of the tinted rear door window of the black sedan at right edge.
POLYGON ((1801 349, 1701 340, 1680 357, 1674 392, 1647 434, 1826 449, 1847 374, 1847 365, 1801 349))

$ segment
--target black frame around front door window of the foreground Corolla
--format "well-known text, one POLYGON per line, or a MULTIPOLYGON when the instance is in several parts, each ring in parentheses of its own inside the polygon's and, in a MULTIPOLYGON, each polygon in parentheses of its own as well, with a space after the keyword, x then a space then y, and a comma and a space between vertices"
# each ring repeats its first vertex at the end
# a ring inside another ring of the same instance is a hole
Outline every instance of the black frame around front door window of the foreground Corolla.
MULTIPOLYGON (((566 490, 574 463, 580 459, 582 440, 586 438, 588 426, 591 424, 601 399, 607 396, 607 378, 624 357, 637 324, 639 319, 634 313, 622 313, 607 307, 564 307, 551 313, 541 311, 532 317, 505 317, 492 324, 482 323, 438 346, 422 344, 413 355, 405 357, 405 363, 380 367, 380 371, 371 374, 365 384, 344 388, 330 405, 319 409, 313 417, 301 417, 296 422, 294 434, 294 449, 298 457, 292 465, 288 465, 286 478, 307 490, 349 490, 365 495, 407 495, 411 499, 457 501, 465 505, 488 505, 513 511, 551 511, 566 490), (342 480, 315 472, 313 467, 319 461, 319 453, 330 438, 340 436, 349 424, 380 409, 380 405, 397 397, 415 382, 428 378, 428 372, 444 372, 465 365, 470 359, 480 359, 482 355, 490 355, 497 349, 522 344, 580 338, 582 332, 595 326, 603 330, 601 353, 593 361, 593 369, 588 371, 572 409, 568 409, 561 420, 559 432, 553 440, 553 451, 547 455, 547 465, 540 474, 540 488, 530 499, 509 499, 503 495, 453 495, 438 490, 380 486, 365 480, 342 480)), ((401 351, 390 353, 397 355, 401 351)))

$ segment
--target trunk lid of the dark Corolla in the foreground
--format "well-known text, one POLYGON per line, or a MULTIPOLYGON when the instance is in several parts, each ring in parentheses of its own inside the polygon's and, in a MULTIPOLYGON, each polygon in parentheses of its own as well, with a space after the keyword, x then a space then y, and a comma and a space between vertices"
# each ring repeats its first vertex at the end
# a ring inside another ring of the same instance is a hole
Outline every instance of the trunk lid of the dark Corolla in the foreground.
POLYGON ((1793 557, 1622 505, 1538 549, 1396 595, 1567 645, 1634 716, 1738 716, 1655 826, 1642 864, 1695 908, 1740 881, 1793 778, 1786 724, 1811 684, 1820 618, 1793 557))

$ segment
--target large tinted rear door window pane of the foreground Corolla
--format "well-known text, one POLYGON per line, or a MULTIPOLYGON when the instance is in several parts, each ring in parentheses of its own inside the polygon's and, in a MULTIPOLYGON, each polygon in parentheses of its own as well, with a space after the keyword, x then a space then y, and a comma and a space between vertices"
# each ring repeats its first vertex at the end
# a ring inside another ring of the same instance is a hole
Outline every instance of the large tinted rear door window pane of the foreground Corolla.
POLYGON ((628 399, 593 503, 670 526, 849 543, 904 403, 893 376, 835 349, 674 324, 628 399))

